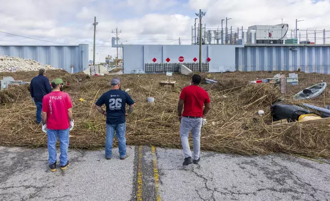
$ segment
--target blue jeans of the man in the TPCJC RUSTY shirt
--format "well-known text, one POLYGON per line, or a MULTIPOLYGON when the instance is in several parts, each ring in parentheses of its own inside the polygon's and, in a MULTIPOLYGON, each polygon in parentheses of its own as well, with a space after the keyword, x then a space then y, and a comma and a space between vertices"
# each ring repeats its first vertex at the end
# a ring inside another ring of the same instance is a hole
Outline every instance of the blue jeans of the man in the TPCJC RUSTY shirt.
POLYGON ((54 164, 56 162, 56 142, 57 135, 60 143, 59 163, 61 166, 65 166, 68 162, 68 148, 69 148, 69 128, 66 130, 51 130, 47 129, 48 136, 48 155, 49 155, 49 164, 54 164))

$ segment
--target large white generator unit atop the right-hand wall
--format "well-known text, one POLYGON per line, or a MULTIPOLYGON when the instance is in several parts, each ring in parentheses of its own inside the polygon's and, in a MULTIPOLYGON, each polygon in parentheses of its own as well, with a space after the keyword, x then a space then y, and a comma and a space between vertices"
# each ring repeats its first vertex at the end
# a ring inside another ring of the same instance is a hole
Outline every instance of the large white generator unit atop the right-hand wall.
POLYGON ((283 44, 288 24, 251 26, 246 32, 248 43, 252 43, 252 30, 255 30, 254 41, 256 44, 283 44))

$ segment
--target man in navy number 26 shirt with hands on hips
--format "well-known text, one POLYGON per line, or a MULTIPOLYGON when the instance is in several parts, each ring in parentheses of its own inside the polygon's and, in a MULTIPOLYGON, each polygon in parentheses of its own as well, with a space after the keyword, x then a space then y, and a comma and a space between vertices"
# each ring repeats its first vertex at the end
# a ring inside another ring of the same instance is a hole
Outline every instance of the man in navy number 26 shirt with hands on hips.
POLYGON ((97 111, 107 117, 107 137, 106 137, 106 158, 111 159, 112 143, 115 132, 118 139, 118 149, 120 159, 128 157, 126 152, 126 116, 133 112, 135 106, 131 96, 120 90, 120 81, 113 78, 110 82, 112 88, 110 91, 101 95, 95 103, 97 111), (102 109, 102 105, 106 104, 106 111, 102 109), (130 106, 126 113, 126 104, 130 106))

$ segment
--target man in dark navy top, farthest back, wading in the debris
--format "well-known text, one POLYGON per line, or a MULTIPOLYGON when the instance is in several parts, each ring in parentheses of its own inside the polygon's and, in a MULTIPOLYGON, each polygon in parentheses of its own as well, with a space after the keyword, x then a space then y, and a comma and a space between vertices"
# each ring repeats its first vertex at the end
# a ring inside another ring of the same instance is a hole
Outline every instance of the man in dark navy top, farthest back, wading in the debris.
POLYGON ((49 84, 49 79, 45 76, 46 70, 41 68, 39 69, 39 75, 33 77, 30 83, 30 94, 32 97, 32 102, 34 102, 37 107, 36 118, 37 124, 41 122, 41 113, 43 109, 43 97, 50 92, 52 92, 52 88, 49 84))

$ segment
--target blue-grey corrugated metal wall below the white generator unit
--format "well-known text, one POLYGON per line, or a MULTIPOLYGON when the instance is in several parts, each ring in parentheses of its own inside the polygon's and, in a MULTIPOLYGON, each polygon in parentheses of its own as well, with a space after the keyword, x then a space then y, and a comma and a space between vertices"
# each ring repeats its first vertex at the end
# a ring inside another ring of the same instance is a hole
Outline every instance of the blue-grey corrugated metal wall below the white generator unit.
POLYGON ((330 46, 246 46, 236 48, 236 70, 330 74, 330 46), (295 48, 295 49, 292 49, 295 48))

